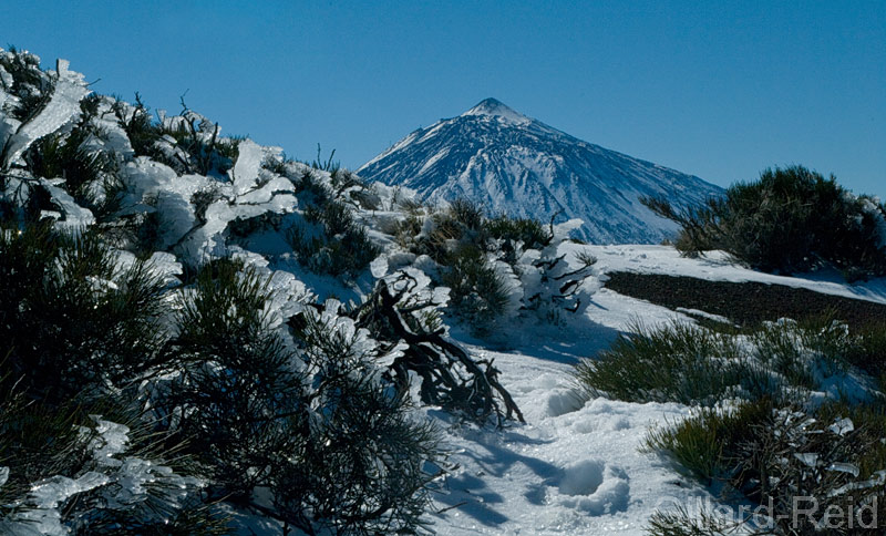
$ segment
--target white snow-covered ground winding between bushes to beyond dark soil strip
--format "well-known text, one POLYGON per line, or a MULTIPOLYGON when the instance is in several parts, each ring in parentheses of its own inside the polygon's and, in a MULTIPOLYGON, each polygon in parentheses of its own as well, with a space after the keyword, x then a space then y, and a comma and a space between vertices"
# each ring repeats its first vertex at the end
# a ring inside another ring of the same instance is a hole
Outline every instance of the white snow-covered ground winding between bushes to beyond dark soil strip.
MULTIPOLYGON (((723 255, 680 257, 666 246, 566 246, 588 250, 601 271, 691 276, 710 280, 790 285, 820 292, 886 302, 886 280, 859 285, 826 275, 781 277, 730 262, 723 255)), ((681 476, 655 453, 642 452, 650 426, 689 414, 681 404, 635 404, 576 395, 571 363, 606 348, 632 322, 656 326, 692 322, 679 312, 618 295, 606 288, 593 296, 584 319, 566 328, 515 330, 516 349, 491 351, 502 383, 522 408, 526 424, 503 431, 451 423, 445 445, 459 465, 435 494, 439 514, 429 516, 441 535, 625 534, 640 535, 652 515, 673 504, 717 504, 707 489, 681 476)), ((463 340, 470 340, 454 334, 463 340)))

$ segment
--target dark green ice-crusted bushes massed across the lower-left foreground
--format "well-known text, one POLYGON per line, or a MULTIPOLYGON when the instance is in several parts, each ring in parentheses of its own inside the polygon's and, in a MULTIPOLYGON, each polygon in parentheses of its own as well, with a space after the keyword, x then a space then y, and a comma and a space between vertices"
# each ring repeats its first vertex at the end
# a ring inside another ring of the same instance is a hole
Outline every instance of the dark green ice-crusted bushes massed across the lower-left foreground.
POLYGON ((4 494, 2 523, 28 534, 21 527, 39 517, 47 534, 101 534, 155 523, 154 512, 197 523, 187 517, 196 503, 206 508, 199 523, 222 530, 209 505, 224 499, 309 534, 415 526, 434 476, 433 429, 414 420, 408 393, 383 378, 378 361, 389 358, 337 305, 317 312, 297 281, 268 280, 243 261, 209 262, 193 286, 167 289, 158 267, 115 257, 92 233, 44 224, 7 227, 2 238, 0 378, 4 392, 34 401, 0 415, 4 480, 18 489, 4 494), (271 282, 284 288, 272 295, 271 282), (284 320, 295 313, 292 331, 284 320), (69 406, 76 412, 53 426, 30 416, 69 406), (127 426, 150 432, 152 456, 127 449, 115 421, 97 421, 112 439, 81 441, 89 414, 115 408, 137 415, 127 426), (51 440, 54 455, 38 450, 51 440), (29 449, 61 462, 35 465, 29 449), (169 452, 203 478, 175 476, 159 463, 169 452), (269 499, 258 498, 262 488, 269 499), (142 512, 148 499, 157 504, 142 512))

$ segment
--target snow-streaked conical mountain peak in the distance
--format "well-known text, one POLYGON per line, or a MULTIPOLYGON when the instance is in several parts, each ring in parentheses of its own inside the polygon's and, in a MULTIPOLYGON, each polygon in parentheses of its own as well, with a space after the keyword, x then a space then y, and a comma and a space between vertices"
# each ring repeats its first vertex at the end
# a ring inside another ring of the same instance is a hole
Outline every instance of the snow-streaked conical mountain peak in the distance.
POLYGON ((576 236, 596 244, 672 236, 676 224, 652 214, 641 196, 686 206, 722 193, 699 177, 578 140, 495 99, 419 128, 357 173, 414 188, 430 202, 466 197, 511 216, 581 218, 576 236))

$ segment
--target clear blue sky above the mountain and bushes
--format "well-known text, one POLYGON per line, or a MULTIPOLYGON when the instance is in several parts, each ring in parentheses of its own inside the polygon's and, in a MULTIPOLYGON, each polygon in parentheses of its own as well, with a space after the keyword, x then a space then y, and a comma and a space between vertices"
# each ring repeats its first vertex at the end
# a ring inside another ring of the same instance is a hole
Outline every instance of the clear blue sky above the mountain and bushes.
POLYGON ((300 159, 494 96, 715 184, 803 164, 886 198, 884 0, 3 1, 7 44, 300 159))

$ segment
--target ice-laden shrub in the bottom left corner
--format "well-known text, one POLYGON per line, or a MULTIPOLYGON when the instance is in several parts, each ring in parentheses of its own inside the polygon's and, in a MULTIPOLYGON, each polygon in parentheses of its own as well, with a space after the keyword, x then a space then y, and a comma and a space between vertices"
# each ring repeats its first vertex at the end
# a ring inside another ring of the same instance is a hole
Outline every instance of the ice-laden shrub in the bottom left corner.
POLYGON ((227 534, 187 460, 113 398, 0 401, 0 533, 227 534), (115 414, 115 421, 94 412, 115 414), (183 473, 184 471, 184 473, 183 473))

